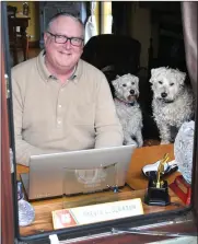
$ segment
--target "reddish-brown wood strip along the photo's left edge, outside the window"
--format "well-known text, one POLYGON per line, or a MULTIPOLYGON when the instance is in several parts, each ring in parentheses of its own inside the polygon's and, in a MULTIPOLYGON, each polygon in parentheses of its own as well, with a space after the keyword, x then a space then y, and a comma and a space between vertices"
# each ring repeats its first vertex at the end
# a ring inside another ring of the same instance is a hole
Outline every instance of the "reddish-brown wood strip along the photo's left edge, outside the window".
POLYGON ((1 243, 14 243, 13 200, 9 153, 9 121, 5 97, 4 57, 1 47, 1 243))

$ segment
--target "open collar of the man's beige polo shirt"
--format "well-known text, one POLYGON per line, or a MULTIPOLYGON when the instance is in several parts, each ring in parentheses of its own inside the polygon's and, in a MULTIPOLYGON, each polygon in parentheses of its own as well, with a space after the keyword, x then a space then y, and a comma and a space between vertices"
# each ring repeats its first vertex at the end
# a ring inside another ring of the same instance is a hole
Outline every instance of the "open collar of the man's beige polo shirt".
MULTIPOLYGON (((79 79, 80 79, 80 77, 82 74, 82 62, 83 61, 80 59, 79 62, 75 66, 75 69, 73 71, 72 75, 69 79, 71 81, 73 81, 74 83, 78 83, 78 81, 79 81, 79 79)), ((39 55, 37 56, 36 65, 37 65, 37 69, 38 69, 39 75, 42 77, 42 79, 45 82, 48 82, 49 78, 56 79, 56 77, 48 71, 48 69, 47 69, 47 67, 45 65, 45 50, 42 50, 39 53, 39 55)))

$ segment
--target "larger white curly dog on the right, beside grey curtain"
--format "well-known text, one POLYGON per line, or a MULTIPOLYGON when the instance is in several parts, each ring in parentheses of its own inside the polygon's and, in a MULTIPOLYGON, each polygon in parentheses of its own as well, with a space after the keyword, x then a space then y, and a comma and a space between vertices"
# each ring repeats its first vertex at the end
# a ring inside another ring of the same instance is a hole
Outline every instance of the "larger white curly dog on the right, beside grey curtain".
POLYGON ((182 124, 194 116, 193 91, 185 85, 185 79, 186 73, 177 69, 161 67, 151 70, 152 109, 161 144, 173 142, 182 124))

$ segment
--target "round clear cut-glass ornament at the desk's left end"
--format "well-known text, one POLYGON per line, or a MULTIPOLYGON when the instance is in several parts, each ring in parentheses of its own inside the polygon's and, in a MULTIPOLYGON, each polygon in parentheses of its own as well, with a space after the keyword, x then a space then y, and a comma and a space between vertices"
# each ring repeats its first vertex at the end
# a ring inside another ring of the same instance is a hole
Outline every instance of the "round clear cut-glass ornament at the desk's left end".
POLYGON ((31 224, 35 219, 35 211, 32 205, 28 201, 24 200, 24 194, 21 182, 18 182, 18 206, 20 226, 26 226, 31 224))

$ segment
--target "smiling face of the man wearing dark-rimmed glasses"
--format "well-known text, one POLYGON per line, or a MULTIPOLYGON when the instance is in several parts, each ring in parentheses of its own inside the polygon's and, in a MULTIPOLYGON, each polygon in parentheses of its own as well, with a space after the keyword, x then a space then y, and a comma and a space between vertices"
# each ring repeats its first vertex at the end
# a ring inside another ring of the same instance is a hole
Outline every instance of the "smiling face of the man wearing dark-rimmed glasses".
MULTIPOLYGON (((83 38, 83 28, 79 22, 69 16, 59 16, 48 30, 54 35, 83 38)), ((44 35, 46 58, 54 69, 71 70, 79 61, 83 44, 73 46, 68 39, 65 44, 55 42, 55 36, 49 33, 44 35)))

